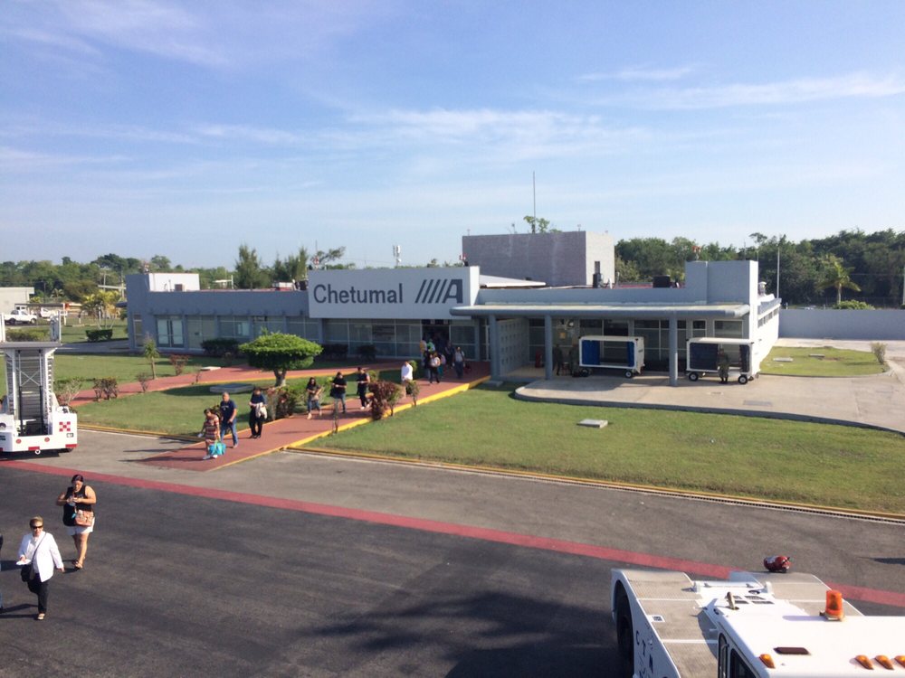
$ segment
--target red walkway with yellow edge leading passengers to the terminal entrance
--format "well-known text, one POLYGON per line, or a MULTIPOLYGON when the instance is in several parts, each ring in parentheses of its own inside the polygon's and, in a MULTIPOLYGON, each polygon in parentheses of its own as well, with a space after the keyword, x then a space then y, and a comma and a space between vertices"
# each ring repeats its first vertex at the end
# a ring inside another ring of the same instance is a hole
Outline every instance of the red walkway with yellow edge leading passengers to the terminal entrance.
MULTIPOLYGON (((369 365, 368 369, 386 370, 386 368, 391 364, 393 363, 376 363, 374 365, 369 365)), ((418 404, 424 405, 431 402, 432 400, 438 400, 440 398, 445 398, 461 391, 466 391, 478 385, 482 381, 487 381, 487 379, 489 379, 489 363, 470 364, 472 369, 469 372, 466 372, 462 381, 455 379, 454 372, 452 372, 452 379, 446 379, 439 384, 428 384, 424 379, 419 380, 418 384, 421 387, 421 391, 418 394, 418 404)), ((347 371, 348 368, 347 370, 343 370, 343 372, 347 371)), ((334 372, 335 370, 328 370, 326 372, 324 370, 304 370, 299 372, 291 372, 289 376, 291 378, 297 378, 310 375, 332 374, 334 372)), ((215 375, 215 378, 214 376, 211 376, 208 379, 203 379, 202 381, 204 381, 205 383, 208 381, 210 381, 211 383, 223 381, 248 381, 249 379, 257 379, 257 381, 263 382, 266 379, 266 373, 250 368, 224 368, 223 370, 216 370, 214 372, 204 372, 204 374, 215 375), (224 371, 226 370, 241 372, 227 372, 226 374, 224 374, 224 371), (259 379, 259 377, 262 377, 262 375, 264 378, 259 379)), ((185 377, 167 377, 167 380, 179 379, 185 380, 185 377)), ((157 381, 164 380, 155 380, 155 385, 157 385, 157 381)), ((194 381, 194 375, 190 375, 187 379, 187 383, 186 381, 176 381, 170 386, 165 386, 164 388, 185 386, 194 381)), ((129 384, 129 386, 131 386, 131 384, 129 384)), ((155 390, 157 391, 163 389, 155 390)), ((140 388, 138 389, 138 391, 140 391, 140 388)), ((94 392, 91 391, 91 400, 93 400, 93 397, 94 392)), ((346 407, 347 413, 345 415, 339 415, 338 427, 340 430, 344 428, 360 426, 362 424, 366 424, 371 420, 370 412, 362 411, 360 409, 361 406, 358 402, 357 396, 354 393, 350 393, 347 396, 346 407)), ((395 411, 398 412, 400 410, 406 410, 410 407, 412 407, 412 400, 411 398, 406 397, 396 405, 395 411)), ((143 463, 151 464, 154 466, 167 466, 169 468, 182 468, 189 471, 211 471, 217 468, 223 468, 224 466, 231 466, 242 461, 247 461, 248 459, 252 459, 254 457, 261 457, 262 455, 267 455, 271 452, 276 452, 277 450, 284 449, 286 447, 306 445, 310 443, 311 440, 329 436, 332 430, 333 410, 332 406, 328 406, 324 408, 323 415, 321 417, 315 416, 311 419, 308 419, 303 414, 297 414, 294 417, 290 417, 288 419, 268 421, 266 424, 264 424, 261 438, 252 439, 249 437, 251 435, 250 432, 247 429, 243 430, 239 434, 239 447, 230 447, 232 445, 232 440, 227 438, 227 440, 225 441, 226 454, 223 457, 216 457, 215 459, 205 460, 204 457, 207 452, 206 446, 203 441, 199 440, 198 442, 187 445, 186 447, 180 447, 178 449, 171 450, 155 457, 148 457, 148 459, 143 460, 143 463)))

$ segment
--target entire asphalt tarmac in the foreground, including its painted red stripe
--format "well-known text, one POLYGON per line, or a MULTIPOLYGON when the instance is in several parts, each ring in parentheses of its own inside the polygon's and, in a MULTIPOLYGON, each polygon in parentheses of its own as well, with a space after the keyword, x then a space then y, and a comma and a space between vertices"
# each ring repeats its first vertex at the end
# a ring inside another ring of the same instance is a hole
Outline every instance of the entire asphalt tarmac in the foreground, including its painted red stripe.
POLYGON ((905 610, 900 523, 291 452, 135 463, 176 444, 86 431, 0 462, 0 675, 609 676, 612 568, 706 579, 777 552, 905 610), (73 469, 98 530, 37 622, 10 565, 33 513, 72 557, 53 501, 73 469))

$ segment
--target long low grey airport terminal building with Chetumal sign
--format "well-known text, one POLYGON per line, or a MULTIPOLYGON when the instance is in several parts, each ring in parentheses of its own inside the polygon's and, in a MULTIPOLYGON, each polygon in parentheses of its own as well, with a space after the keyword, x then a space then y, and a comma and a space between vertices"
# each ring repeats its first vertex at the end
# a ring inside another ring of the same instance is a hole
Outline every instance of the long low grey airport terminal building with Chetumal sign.
POLYGON ((138 350, 150 335, 162 352, 200 353, 206 339, 245 342, 266 329, 346 344, 350 355, 373 344, 379 358, 411 359, 422 337, 433 335, 469 359, 490 361, 494 378, 513 379, 526 367, 538 370, 533 378, 550 378, 554 356, 574 352, 584 336, 640 337, 646 369, 668 371, 674 383, 687 340, 718 337, 748 342, 757 372, 778 336, 780 300, 758 284, 756 261, 690 261, 681 286, 612 287, 612 239, 583 244, 574 235, 474 236, 463 239, 474 252, 469 263, 485 259, 496 269, 312 270, 304 289, 202 290, 197 274, 129 276, 129 346, 138 350), (525 248, 551 252, 558 237, 572 240, 558 247, 556 262, 545 260, 546 272, 573 279, 551 286, 525 265, 525 248), (481 238, 492 256, 481 252, 481 238), (516 270, 512 261, 509 268, 493 263, 506 259, 500 251, 523 262, 523 276, 505 276, 516 270), (570 267, 578 255, 580 267, 570 267))

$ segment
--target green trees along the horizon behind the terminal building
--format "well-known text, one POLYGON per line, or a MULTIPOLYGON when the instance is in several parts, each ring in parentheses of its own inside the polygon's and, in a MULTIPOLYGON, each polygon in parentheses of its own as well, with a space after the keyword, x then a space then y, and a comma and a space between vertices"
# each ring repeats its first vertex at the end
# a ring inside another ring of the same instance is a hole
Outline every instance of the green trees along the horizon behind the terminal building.
MULTIPOLYGON (((534 227, 533 232, 548 232, 548 223, 537 220, 530 225, 534 227)), ((840 231, 826 238, 798 242, 786 236, 767 237, 762 233, 752 233, 750 238, 751 244, 740 249, 721 246, 719 242, 699 244, 687 238, 619 240, 615 246, 616 282, 649 283, 657 275, 681 281, 685 262, 695 259, 756 259, 760 279, 773 293, 778 263, 779 296, 791 305, 833 306, 839 302, 882 307, 901 305, 905 231, 840 231)), ((64 257, 61 264, 47 260, 5 261, 0 263, 0 287, 34 287, 34 300, 38 302, 84 303, 92 298, 97 301, 97 295, 119 285, 131 273, 191 270, 198 274, 203 289, 230 283, 237 289, 253 289, 303 280, 311 268, 355 268, 354 264, 343 262, 345 252, 343 247, 315 252, 302 247, 289 256, 277 256, 268 264, 256 250, 243 244, 232 269, 185 268, 172 264, 162 255, 135 259, 112 253, 89 263, 69 257, 64 257)), ((436 266, 436 259, 427 265, 436 266)))

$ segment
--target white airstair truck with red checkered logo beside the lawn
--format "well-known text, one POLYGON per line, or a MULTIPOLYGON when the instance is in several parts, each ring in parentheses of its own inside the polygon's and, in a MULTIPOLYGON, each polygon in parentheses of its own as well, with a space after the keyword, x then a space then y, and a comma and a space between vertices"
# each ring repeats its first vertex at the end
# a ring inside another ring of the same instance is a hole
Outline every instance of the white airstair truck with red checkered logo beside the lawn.
POLYGON ((6 341, 0 317, 0 351, 5 355, 6 395, 0 408, 0 452, 71 451, 79 444, 78 417, 53 393, 53 353, 62 345, 60 318, 51 319, 51 340, 6 341))

